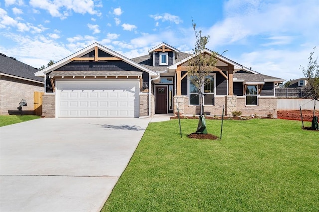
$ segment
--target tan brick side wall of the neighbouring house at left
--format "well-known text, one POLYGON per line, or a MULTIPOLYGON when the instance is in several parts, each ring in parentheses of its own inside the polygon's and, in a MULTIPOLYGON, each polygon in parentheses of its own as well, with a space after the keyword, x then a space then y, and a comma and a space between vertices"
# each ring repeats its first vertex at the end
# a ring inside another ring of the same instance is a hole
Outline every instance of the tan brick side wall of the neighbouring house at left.
POLYGON ((22 110, 33 111, 35 91, 44 92, 44 84, 0 76, 0 115, 8 115, 9 110, 17 111, 22 99, 27 102, 22 110))

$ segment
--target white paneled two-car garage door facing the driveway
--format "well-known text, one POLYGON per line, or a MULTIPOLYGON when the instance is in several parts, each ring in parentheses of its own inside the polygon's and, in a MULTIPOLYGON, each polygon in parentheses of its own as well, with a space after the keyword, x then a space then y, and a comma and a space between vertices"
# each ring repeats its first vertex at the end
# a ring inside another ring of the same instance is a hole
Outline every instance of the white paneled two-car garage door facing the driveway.
POLYGON ((57 80, 57 118, 139 117, 139 81, 57 80))

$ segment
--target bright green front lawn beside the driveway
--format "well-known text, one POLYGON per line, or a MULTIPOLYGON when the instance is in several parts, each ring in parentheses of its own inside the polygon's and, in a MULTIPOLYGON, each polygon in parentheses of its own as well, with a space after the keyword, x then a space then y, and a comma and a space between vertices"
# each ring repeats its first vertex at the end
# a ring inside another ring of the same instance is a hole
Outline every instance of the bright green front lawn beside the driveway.
MULTIPOLYGON (((197 140, 186 136, 198 120, 181 124, 183 138, 178 120, 149 124, 102 212, 319 211, 319 132, 225 120, 222 140, 197 140)), ((208 132, 220 124, 207 120, 208 132)))

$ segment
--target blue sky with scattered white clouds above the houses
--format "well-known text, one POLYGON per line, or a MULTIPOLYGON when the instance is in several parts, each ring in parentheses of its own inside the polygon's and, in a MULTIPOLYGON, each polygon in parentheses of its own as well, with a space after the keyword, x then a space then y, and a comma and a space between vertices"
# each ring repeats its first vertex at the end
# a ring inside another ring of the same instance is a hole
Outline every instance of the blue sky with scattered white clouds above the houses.
POLYGON ((128 58, 165 42, 207 48, 254 71, 303 77, 319 55, 319 0, 0 0, 0 52, 34 67, 98 42, 128 58))

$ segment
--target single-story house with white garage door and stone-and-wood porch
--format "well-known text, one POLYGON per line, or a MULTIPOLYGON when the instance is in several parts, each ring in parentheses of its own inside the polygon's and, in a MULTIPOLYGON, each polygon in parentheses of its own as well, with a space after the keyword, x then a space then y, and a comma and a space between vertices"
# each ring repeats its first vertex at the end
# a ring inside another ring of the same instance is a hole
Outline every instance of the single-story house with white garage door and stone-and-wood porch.
MULTIPOLYGON (((208 49, 206 54, 212 52, 208 49)), ((198 92, 187 75, 191 54, 162 43, 149 54, 128 59, 94 43, 35 73, 45 78, 45 117, 146 117, 193 115, 198 92)), ((259 74, 218 55, 203 92, 204 112, 221 115, 277 115, 275 86, 283 79, 259 74)))

